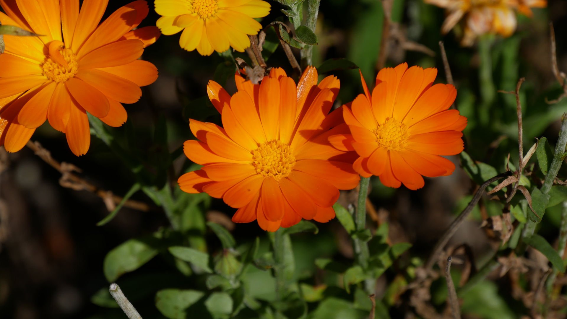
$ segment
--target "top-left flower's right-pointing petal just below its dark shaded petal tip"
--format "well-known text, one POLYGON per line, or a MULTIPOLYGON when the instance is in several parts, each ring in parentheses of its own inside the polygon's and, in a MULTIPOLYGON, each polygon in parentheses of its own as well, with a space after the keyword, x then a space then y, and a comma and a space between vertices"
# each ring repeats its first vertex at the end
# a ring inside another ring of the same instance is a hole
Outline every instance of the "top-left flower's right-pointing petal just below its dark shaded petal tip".
POLYGON ((131 39, 113 42, 91 51, 79 59, 79 70, 128 64, 142 56, 142 53, 143 43, 140 40, 131 39))

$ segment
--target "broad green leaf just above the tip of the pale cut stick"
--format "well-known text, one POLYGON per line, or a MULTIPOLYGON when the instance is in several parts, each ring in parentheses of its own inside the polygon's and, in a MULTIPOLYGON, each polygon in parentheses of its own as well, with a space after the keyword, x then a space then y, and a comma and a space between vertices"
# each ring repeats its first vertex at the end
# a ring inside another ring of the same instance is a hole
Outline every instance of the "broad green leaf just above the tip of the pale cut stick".
POLYGON ((114 282, 122 274, 134 271, 158 254, 155 239, 130 239, 108 252, 104 257, 104 276, 114 282), (150 244, 151 243, 151 244, 150 244))

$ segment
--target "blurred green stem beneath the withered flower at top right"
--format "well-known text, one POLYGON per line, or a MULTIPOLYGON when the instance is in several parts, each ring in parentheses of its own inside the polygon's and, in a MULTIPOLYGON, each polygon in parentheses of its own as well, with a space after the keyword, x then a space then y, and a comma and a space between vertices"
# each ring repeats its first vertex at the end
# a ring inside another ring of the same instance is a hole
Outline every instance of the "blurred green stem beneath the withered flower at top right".
POLYGON ((490 51, 493 43, 493 35, 485 35, 479 39, 480 95, 483 99, 483 103, 479 108, 479 120, 483 125, 487 125, 490 122, 489 110, 496 97, 494 80, 492 79, 492 52, 490 51))

